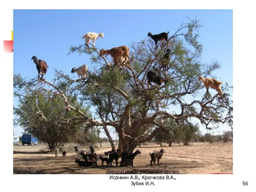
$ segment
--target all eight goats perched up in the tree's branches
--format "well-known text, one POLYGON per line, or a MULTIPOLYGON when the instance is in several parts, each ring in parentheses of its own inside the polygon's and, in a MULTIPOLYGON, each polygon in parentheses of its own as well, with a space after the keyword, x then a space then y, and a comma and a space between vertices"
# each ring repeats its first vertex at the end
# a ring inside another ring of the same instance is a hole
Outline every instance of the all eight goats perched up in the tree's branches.
MULTIPOLYGON (((163 33, 155 34, 155 35, 153 35, 150 32, 148 33, 148 36, 151 37, 155 41, 155 50, 158 48, 158 41, 165 40, 167 42, 167 47, 169 46, 168 34, 169 34, 169 31, 167 33, 163 32, 163 33)), ((82 38, 85 39, 85 44, 87 47, 89 47, 90 41, 93 40, 93 46, 95 46, 95 41, 99 37, 103 38, 104 34, 103 33, 97 34, 94 32, 89 32, 89 33, 86 33, 82 38)), ((129 61, 129 48, 127 46, 114 47, 109 50, 101 49, 100 56, 102 57, 104 54, 111 55, 111 57, 114 60, 114 66, 117 66, 117 64, 126 64, 129 61)), ((46 74, 46 72, 47 72, 47 68, 48 68, 47 63, 44 60, 37 59, 36 56, 33 56, 32 59, 33 59, 34 63, 36 64, 36 68, 38 71, 38 78, 39 78, 39 74, 41 72, 42 73, 41 79, 43 79, 43 75, 46 74)), ((170 69, 169 61, 170 61, 170 49, 168 48, 166 50, 165 55, 161 59, 160 69, 163 68, 164 70, 169 70, 170 69)), ((89 73, 87 65, 82 65, 79 68, 75 68, 75 67, 72 68, 71 73, 75 73, 75 72, 78 74, 78 79, 81 76, 81 79, 83 79, 83 80, 86 78, 87 72, 89 73)), ((149 84, 152 85, 151 82, 154 82, 154 83, 158 84, 159 86, 161 86, 163 84, 163 82, 166 84, 166 82, 168 81, 168 78, 162 78, 160 75, 158 75, 157 73, 155 73, 152 70, 149 70, 147 72, 146 77, 148 79, 148 82, 147 82, 148 87, 149 87, 149 84)), ((222 90, 220 88, 220 84, 222 84, 222 82, 218 81, 217 79, 213 79, 213 78, 203 78, 203 76, 198 76, 198 80, 203 81, 203 84, 206 87, 207 92, 209 90, 209 87, 211 87, 212 89, 215 89, 218 92, 217 96, 218 95, 220 95, 220 97, 224 96, 224 94, 222 94, 222 90)))

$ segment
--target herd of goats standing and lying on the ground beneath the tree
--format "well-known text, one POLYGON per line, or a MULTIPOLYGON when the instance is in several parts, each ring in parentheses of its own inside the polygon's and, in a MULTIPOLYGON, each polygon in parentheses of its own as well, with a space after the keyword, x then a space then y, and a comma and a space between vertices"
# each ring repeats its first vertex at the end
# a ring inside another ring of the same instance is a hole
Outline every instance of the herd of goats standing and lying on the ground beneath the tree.
MULTIPOLYGON (((90 151, 87 151, 86 149, 78 149, 77 146, 74 147, 76 154, 78 155, 78 158, 75 159, 75 163, 77 163, 80 167, 97 167, 97 155, 96 152, 94 150, 94 148, 92 146, 90 146, 90 151), (80 156, 82 156, 83 160, 80 160, 80 156)), ((58 147, 54 147, 54 153, 55 153, 55 158, 58 158, 58 153, 59 153, 59 149, 58 147)), ((150 164, 153 166, 152 162, 155 165, 155 161, 158 161, 158 165, 159 165, 159 160, 162 158, 162 155, 165 151, 163 149, 160 150, 160 152, 153 152, 153 153, 149 153, 151 160, 150 160, 150 164)), ((107 166, 111 166, 112 167, 112 162, 113 160, 116 161, 116 166, 118 159, 121 157, 121 163, 120 166, 123 167, 125 164, 125 161, 128 160, 128 165, 133 166, 133 160, 135 158, 136 155, 140 154, 139 150, 136 150, 134 153, 127 153, 127 152, 123 152, 120 156, 120 150, 117 149, 112 149, 111 151, 107 151, 104 152, 104 154, 106 155, 105 158, 103 158, 102 156, 99 157, 99 159, 103 163, 104 161, 106 162, 107 166)), ((66 157, 66 151, 62 152, 62 157, 66 157)), ((156 166, 156 165, 155 165, 156 166)))

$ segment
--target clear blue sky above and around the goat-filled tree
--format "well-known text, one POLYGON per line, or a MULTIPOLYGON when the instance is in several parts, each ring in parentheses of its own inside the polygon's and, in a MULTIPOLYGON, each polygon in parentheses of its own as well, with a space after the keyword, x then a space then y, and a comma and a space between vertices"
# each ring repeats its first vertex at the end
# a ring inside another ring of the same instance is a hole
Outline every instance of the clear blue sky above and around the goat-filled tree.
MULTIPOLYGON (((221 69, 214 74, 233 85, 232 10, 14 10, 14 73, 34 78, 37 70, 31 58, 35 55, 49 66, 44 76, 47 80, 53 79, 53 68, 72 75, 74 66, 87 64, 90 69, 89 55, 66 55, 70 46, 84 43, 80 37, 85 33, 104 33, 104 38, 96 41, 99 48, 129 46, 148 38, 148 32, 169 31, 172 35, 183 21, 188 22, 186 16, 197 17, 204 26, 199 29, 202 61, 217 60, 221 69)), ((77 78, 76 74, 73 76, 77 78)), ((220 127, 227 129, 225 125, 220 127)), ((22 135, 20 127, 14 127, 14 132, 22 135)))

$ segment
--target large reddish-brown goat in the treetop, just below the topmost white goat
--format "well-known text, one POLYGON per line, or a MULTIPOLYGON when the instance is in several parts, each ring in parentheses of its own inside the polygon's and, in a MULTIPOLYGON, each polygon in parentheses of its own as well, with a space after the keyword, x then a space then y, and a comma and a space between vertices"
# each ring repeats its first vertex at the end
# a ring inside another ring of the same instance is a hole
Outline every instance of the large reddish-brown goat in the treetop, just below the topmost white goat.
POLYGON ((117 65, 118 63, 124 64, 129 61, 129 48, 127 46, 113 47, 109 50, 101 49, 100 56, 103 56, 104 54, 111 55, 114 59, 114 65, 117 65), (124 58, 123 62, 122 57, 124 58))

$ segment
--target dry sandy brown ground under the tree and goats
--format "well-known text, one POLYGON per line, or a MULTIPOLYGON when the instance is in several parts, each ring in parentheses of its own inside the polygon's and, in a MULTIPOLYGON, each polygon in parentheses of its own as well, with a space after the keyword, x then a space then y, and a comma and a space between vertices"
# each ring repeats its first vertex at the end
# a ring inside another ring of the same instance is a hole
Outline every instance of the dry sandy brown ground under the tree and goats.
MULTIPOLYGON (((106 174, 106 170, 168 170, 179 171, 180 174, 232 174, 233 173, 233 142, 219 143, 191 143, 189 146, 175 144, 167 147, 167 144, 160 147, 156 144, 142 145, 134 159, 134 167, 107 167, 106 162, 103 166, 98 158, 97 168, 79 167, 75 158, 77 155, 74 151, 62 157, 62 152, 55 159, 55 154, 40 152, 41 148, 46 146, 27 146, 14 145, 13 153, 13 173, 14 174, 106 174), (149 153, 164 149, 166 153, 160 159, 160 166, 150 165, 149 153)), ((65 150, 65 149, 64 149, 65 150)), ((102 148, 95 148, 97 157, 105 151, 111 150, 110 144, 107 143, 102 148)), ((118 160, 120 164, 121 158, 118 160)), ((113 162, 112 165, 115 165, 113 162)))

